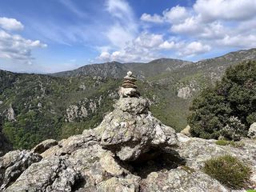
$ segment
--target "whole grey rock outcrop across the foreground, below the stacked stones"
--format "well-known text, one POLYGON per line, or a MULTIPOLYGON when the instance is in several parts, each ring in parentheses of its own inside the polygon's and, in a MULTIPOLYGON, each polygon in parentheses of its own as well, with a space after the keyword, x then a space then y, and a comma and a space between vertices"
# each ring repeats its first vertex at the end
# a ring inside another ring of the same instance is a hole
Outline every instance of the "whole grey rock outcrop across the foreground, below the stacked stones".
POLYGON ((1 191, 231 191, 202 172, 204 162, 231 154, 252 168, 256 140, 218 146, 215 140, 176 134, 154 118, 141 97, 120 98, 94 130, 0 158, 1 191))

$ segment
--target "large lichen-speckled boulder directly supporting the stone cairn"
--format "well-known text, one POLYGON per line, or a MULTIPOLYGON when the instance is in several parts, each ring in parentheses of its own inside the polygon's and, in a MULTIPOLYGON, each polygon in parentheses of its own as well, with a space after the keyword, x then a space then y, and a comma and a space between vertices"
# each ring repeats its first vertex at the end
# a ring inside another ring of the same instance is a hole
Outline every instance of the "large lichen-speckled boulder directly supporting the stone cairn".
POLYGON ((152 148, 175 146, 175 131, 154 118, 148 106, 143 98, 120 98, 96 128, 102 135, 101 145, 122 161, 134 161, 152 148))

